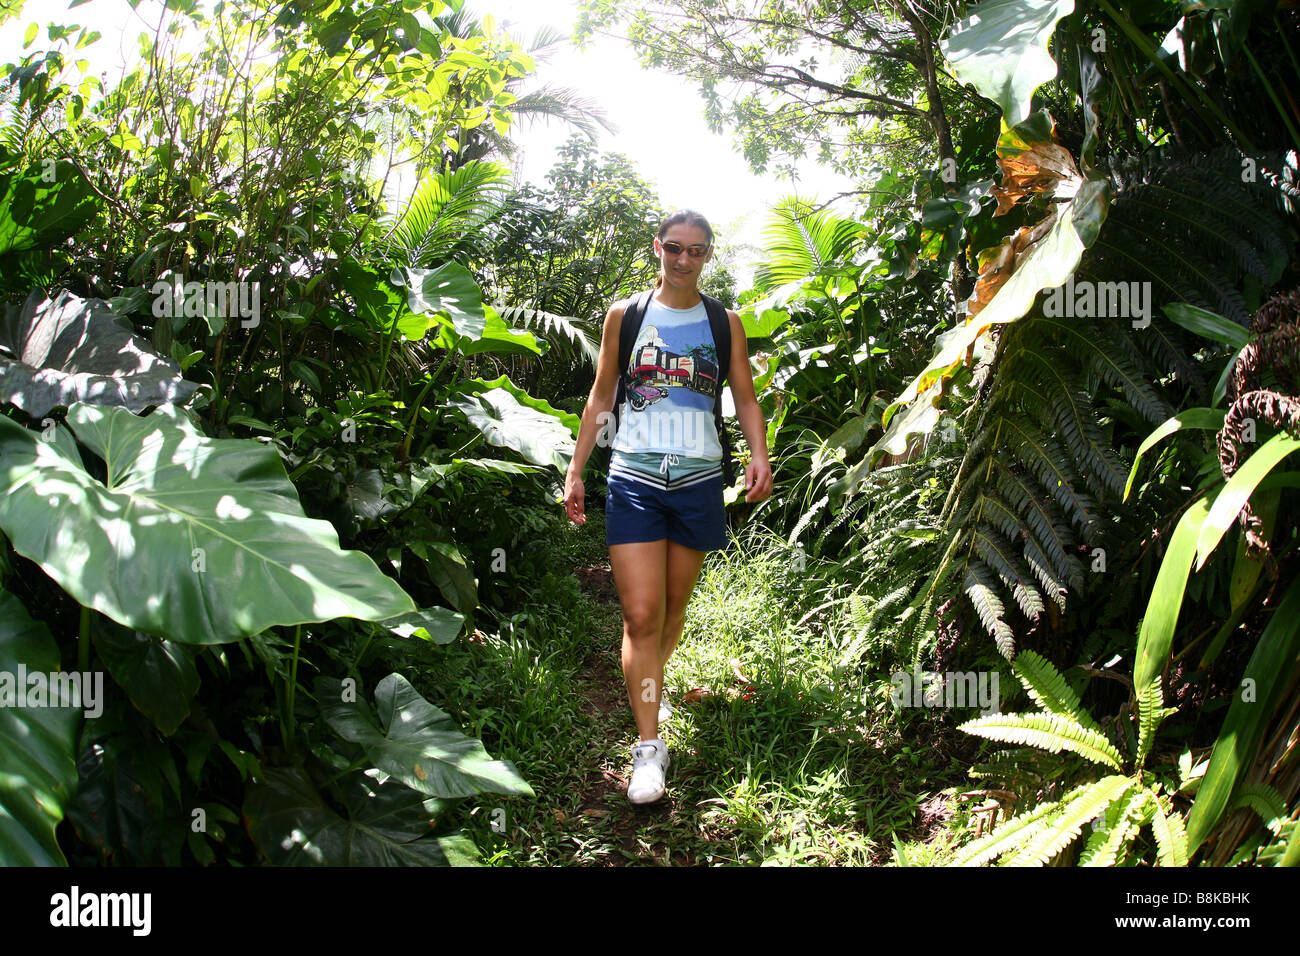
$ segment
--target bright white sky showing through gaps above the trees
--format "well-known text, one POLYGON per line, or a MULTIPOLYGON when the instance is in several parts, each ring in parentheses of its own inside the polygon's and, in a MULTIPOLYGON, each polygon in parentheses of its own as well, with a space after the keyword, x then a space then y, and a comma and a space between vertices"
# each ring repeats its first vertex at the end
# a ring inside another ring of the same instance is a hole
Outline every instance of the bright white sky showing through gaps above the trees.
MULTIPOLYGON (((29 0, 21 17, 0 27, 0 62, 16 62, 22 56, 23 34, 32 21, 42 25, 34 48, 46 46, 46 23, 79 23, 103 33, 79 55, 91 61, 92 73, 108 70, 112 82, 135 59, 136 35, 156 25, 161 9, 159 0, 139 3, 138 12, 127 0, 91 0, 75 9, 69 9, 70 3, 29 0)), ((575 0, 471 0, 469 5, 481 14, 493 14, 498 23, 508 23, 523 42, 542 25, 569 34, 577 21, 575 0)), ((536 82, 569 87, 594 100, 618 129, 614 134, 601 130, 601 150, 632 159, 664 206, 703 212, 723 245, 760 245, 767 209, 796 189, 812 199, 829 199, 850 189, 846 181, 811 161, 801 170, 797 186, 775 176, 754 176, 727 135, 708 131, 697 88, 681 77, 641 69, 620 39, 595 38, 582 51, 566 43, 538 65, 536 82)), ((556 147, 569 134, 562 124, 516 129, 514 138, 524 144, 521 178, 543 183, 556 147)), ((741 287, 751 272, 748 265, 737 263, 741 287)))

